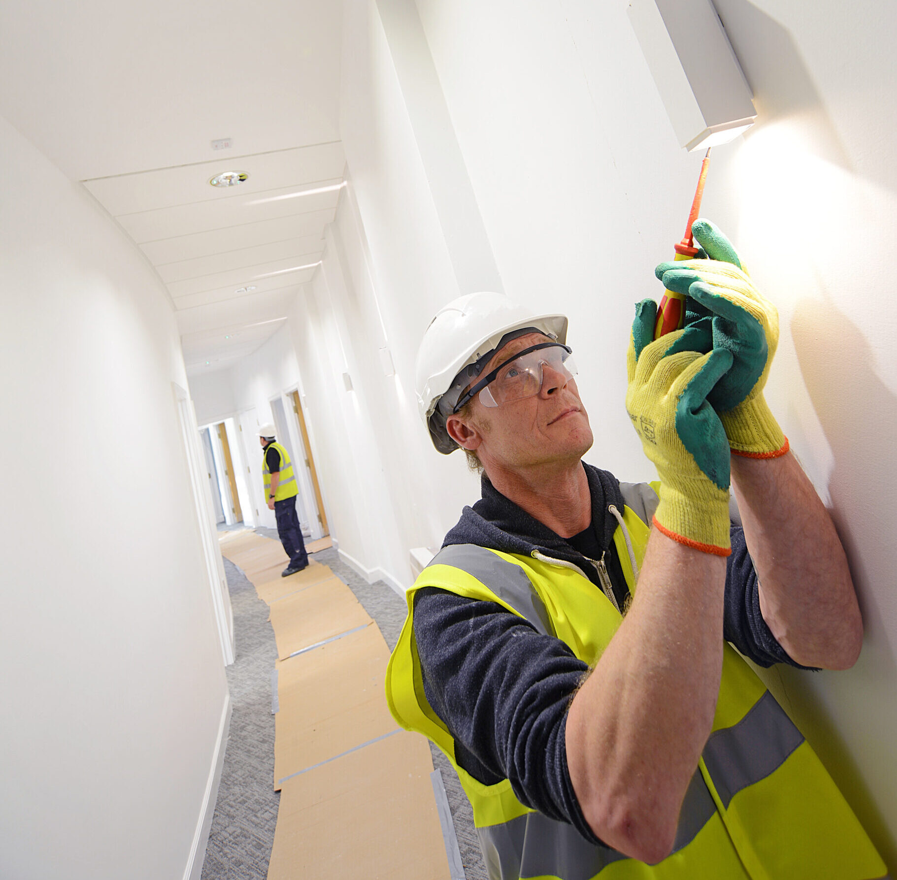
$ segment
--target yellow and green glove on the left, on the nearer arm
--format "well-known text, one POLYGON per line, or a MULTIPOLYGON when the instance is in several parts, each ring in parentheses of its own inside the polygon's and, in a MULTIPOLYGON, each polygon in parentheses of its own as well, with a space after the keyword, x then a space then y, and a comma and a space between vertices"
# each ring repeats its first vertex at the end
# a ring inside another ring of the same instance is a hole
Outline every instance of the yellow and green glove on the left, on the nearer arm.
POLYGON ((729 445, 708 396, 733 355, 712 348, 706 321, 652 342, 657 303, 635 309, 626 409, 660 477, 654 524, 680 544, 727 556, 729 445))

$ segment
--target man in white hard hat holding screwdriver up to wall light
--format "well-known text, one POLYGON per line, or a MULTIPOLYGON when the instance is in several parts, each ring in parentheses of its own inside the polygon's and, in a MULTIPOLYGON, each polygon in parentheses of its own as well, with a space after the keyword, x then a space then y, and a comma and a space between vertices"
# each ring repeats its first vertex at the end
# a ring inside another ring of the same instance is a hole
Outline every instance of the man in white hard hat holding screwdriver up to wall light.
MULTIPOLYGON (((887 875, 745 662, 846 669, 863 627, 764 400, 776 309, 712 224, 693 231, 699 258, 657 270, 689 297, 684 329, 655 341, 653 301, 631 327, 625 405, 656 483, 582 461, 563 315, 472 293, 423 336, 424 421, 482 498, 407 591, 387 699, 457 769, 496 880, 887 875)), ((618 375, 582 344, 606 370, 590 380, 618 375)))

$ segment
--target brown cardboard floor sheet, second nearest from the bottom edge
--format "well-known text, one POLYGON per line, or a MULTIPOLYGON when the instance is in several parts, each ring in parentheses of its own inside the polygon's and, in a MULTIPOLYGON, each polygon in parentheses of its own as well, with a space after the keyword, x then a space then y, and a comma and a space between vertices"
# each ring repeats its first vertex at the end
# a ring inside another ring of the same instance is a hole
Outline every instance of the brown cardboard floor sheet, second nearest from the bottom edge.
POLYGON ((396 729, 383 693, 389 649, 376 623, 278 661, 274 790, 293 773, 396 729))

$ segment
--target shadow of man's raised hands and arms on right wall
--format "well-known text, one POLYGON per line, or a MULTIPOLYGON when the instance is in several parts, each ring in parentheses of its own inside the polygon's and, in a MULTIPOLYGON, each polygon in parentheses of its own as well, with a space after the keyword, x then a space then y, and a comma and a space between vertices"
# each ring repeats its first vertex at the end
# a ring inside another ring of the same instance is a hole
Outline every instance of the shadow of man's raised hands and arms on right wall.
MULTIPOLYGON (((839 691, 839 701, 856 710, 852 750, 856 753, 861 744, 867 758, 879 764, 887 777, 894 772, 897 685, 892 643, 897 635, 897 609, 891 599, 897 571, 892 479, 897 397, 876 375, 865 337, 827 297, 799 301, 791 332, 807 391, 832 449, 834 467, 828 487, 832 518, 848 554, 866 628, 857 666, 848 673, 814 676, 813 684, 821 684, 818 690, 839 691)), ((801 679, 806 674, 783 669, 781 675, 789 695, 798 699, 799 693, 800 713, 807 731, 814 733, 814 748, 893 868, 897 846, 882 820, 889 811, 874 803, 817 689, 807 693, 806 677, 801 679)), ((888 785, 886 779, 879 781, 888 785)))

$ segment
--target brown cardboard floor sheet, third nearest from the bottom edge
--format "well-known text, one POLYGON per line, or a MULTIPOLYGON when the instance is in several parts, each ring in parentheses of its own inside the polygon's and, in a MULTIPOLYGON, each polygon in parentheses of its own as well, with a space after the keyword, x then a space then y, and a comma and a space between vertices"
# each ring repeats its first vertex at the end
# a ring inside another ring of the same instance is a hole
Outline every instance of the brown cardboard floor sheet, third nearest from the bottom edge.
POLYGON ((370 616, 351 589, 338 578, 313 584, 271 605, 271 626, 277 642, 277 657, 370 622, 370 616))

